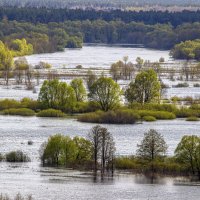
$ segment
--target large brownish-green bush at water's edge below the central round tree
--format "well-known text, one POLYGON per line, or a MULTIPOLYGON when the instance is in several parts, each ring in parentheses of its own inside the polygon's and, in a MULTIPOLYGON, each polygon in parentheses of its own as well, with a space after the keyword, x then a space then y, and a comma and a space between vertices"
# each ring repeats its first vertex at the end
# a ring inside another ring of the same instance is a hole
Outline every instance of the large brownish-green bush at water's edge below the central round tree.
POLYGON ((86 113, 78 117, 78 120, 81 122, 103 124, 134 124, 139 119, 140 116, 130 109, 108 112, 97 111, 93 113, 86 113))

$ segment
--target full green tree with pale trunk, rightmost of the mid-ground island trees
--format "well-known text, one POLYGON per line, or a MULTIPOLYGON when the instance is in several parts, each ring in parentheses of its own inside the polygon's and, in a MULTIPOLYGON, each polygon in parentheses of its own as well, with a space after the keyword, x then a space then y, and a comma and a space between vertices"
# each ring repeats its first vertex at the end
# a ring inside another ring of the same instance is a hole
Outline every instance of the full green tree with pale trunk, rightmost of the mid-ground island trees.
POLYGON ((134 101, 141 104, 160 100, 160 82, 154 70, 149 69, 140 72, 135 81, 131 82, 125 91, 125 97, 129 103, 134 101))

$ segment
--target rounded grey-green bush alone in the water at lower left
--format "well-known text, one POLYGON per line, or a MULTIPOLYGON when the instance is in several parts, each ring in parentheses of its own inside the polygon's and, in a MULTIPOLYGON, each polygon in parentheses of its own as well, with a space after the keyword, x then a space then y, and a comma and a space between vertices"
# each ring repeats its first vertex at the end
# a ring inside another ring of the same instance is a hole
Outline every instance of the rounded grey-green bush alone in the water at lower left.
POLYGON ((7 162, 29 162, 30 158, 22 151, 11 151, 6 154, 7 162))

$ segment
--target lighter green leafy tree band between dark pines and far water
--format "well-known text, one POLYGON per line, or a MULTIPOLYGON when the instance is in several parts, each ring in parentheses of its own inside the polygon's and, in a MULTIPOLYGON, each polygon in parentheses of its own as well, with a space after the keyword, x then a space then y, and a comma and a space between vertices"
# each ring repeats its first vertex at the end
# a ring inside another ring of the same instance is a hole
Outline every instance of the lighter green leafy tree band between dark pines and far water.
POLYGON ((25 38, 34 53, 61 51, 65 47, 82 47, 85 43, 142 44, 148 48, 171 49, 175 44, 200 37, 200 23, 149 25, 144 22, 80 20, 49 23, 0 22, 0 40, 9 43, 25 38))

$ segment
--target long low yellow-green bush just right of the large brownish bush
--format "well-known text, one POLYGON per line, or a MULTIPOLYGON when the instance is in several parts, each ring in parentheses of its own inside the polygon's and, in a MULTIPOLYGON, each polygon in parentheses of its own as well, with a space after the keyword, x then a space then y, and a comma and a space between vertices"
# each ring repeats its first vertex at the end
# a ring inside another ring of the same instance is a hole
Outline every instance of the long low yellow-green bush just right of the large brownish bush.
POLYGON ((137 113, 141 118, 145 116, 152 116, 156 119, 175 119, 176 116, 172 112, 167 111, 151 111, 151 110, 139 110, 137 113))

